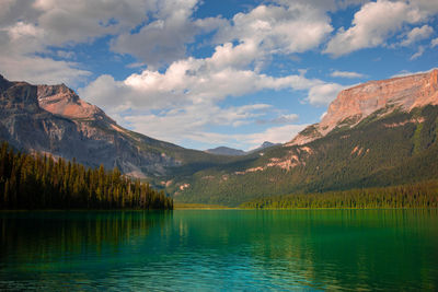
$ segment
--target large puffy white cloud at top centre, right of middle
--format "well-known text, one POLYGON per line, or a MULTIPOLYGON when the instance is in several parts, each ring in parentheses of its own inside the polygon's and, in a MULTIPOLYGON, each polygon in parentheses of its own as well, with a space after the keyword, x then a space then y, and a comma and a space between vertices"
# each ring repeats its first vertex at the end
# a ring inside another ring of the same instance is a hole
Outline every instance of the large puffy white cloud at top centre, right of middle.
POLYGON ((302 52, 318 47, 333 31, 324 13, 300 2, 262 4, 249 13, 235 14, 230 25, 219 30, 216 42, 253 43, 269 54, 302 52))

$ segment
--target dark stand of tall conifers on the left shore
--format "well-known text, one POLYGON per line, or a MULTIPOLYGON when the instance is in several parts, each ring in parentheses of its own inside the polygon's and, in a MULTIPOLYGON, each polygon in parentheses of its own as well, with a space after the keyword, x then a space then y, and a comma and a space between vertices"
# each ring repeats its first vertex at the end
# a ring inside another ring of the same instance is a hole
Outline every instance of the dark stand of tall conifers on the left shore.
POLYGON ((173 209, 173 200, 117 167, 85 167, 74 160, 0 147, 0 209, 173 209))

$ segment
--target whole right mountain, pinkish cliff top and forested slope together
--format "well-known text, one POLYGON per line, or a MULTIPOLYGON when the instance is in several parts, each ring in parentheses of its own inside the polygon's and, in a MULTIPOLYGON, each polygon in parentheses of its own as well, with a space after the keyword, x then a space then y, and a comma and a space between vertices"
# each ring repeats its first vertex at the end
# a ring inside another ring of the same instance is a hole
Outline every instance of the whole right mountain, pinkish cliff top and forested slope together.
POLYGON ((438 178, 438 70, 343 91, 290 142, 175 176, 176 201, 238 206, 255 198, 438 178))

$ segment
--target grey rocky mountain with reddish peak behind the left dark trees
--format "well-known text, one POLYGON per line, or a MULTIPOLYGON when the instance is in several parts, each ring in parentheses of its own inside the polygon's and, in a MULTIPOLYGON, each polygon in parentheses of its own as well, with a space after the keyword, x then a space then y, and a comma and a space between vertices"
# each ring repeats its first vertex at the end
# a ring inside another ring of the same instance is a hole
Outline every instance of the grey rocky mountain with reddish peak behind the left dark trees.
POLYGON ((0 139, 26 152, 117 166, 134 177, 157 178, 157 184, 173 168, 184 174, 230 161, 124 129, 64 84, 32 85, 2 75, 0 139))

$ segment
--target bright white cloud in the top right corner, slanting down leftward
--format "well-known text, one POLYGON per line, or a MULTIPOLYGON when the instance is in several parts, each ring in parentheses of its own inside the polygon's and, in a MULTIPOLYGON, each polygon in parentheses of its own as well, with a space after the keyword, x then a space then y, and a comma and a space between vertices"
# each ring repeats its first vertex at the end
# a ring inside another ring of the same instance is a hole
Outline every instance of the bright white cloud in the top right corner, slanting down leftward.
POLYGON ((339 57, 358 49, 384 45, 404 24, 419 23, 427 15, 427 11, 420 10, 415 3, 388 0, 367 3, 355 14, 351 27, 337 31, 324 52, 339 57))

